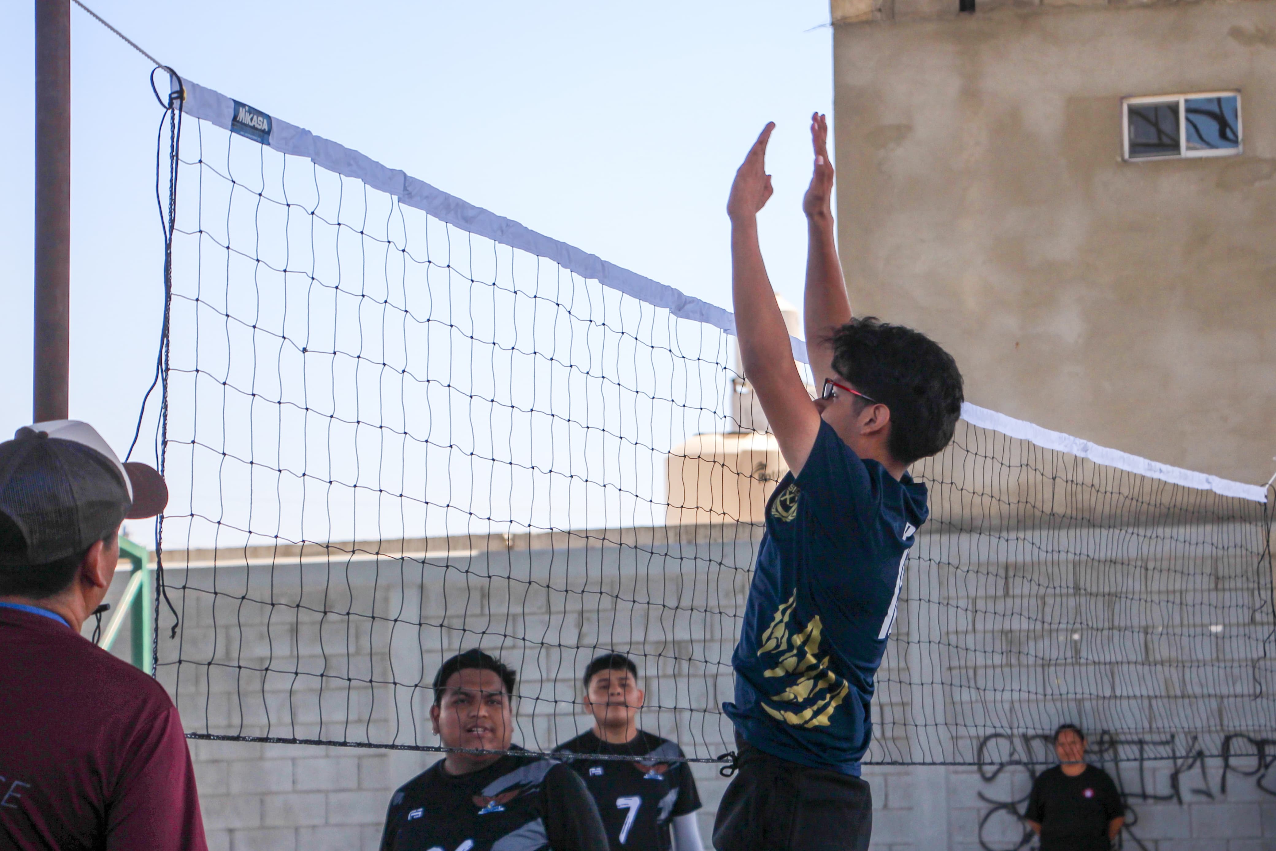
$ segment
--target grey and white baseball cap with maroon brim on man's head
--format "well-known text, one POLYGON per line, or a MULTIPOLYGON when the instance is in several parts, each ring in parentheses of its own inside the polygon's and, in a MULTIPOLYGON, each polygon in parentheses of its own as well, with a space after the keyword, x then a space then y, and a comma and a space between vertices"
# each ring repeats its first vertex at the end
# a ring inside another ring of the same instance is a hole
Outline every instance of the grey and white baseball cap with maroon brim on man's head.
POLYGON ((154 517, 167 504, 163 477, 148 464, 120 463, 87 422, 36 422, 0 443, 0 522, 22 540, 0 550, 0 565, 83 552, 125 519, 154 517))

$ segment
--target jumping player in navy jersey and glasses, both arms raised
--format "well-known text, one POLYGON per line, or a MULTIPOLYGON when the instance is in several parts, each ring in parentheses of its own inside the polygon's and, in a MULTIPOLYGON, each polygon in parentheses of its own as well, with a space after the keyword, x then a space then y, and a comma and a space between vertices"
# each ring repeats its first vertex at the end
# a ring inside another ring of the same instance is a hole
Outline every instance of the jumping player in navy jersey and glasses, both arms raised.
POLYGON ((894 623, 905 560, 926 519, 907 467, 942 450, 961 416, 957 364, 916 330, 852 318, 833 240, 828 128, 812 116, 806 351, 812 401, 758 246, 771 198, 768 124, 736 172, 732 295, 744 371, 790 472, 766 510, 732 657, 739 772, 713 828, 718 851, 863 850, 873 800, 860 778, 873 677, 894 623))

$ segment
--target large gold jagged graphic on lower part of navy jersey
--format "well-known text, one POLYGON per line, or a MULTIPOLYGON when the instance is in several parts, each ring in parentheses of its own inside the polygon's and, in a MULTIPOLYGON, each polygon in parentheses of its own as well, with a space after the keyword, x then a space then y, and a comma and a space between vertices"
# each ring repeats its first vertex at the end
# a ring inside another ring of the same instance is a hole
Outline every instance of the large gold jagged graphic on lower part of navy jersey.
POLYGON ((790 621, 798 606, 798 592, 776 610, 767 632, 762 633, 758 656, 767 656, 773 666, 763 676, 798 676, 798 681, 780 694, 764 698, 762 708, 772 718, 795 727, 826 727, 833 711, 850 693, 850 684, 828 670, 828 656, 820 656, 819 640, 823 624, 819 615, 800 632, 790 621), (772 709, 767 700, 787 703, 792 709, 772 709))

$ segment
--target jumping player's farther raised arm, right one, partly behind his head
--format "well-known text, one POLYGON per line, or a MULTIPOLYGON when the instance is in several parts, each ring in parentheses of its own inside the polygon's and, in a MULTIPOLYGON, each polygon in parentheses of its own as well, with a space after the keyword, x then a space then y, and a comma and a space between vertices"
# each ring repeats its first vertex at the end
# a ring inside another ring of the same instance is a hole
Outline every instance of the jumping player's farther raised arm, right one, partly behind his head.
POLYGON ((833 375, 832 333, 851 320, 851 302, 846 296, 842 264, 837 259, 833 239, 833 163, 828 158, 828 120, 815 112, 810 116, 810 140, 815 151, 815 171, 803 198, 806 213, 806 295, 803 320, 806 333, 806 356, 815 387, 823 387, 833 375))

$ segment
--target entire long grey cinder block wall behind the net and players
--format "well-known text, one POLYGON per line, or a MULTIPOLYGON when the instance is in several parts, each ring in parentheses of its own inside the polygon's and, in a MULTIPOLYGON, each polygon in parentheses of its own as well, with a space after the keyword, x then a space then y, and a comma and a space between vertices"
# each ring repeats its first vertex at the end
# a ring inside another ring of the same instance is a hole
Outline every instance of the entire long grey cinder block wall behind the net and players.
MULTIPOLYGON (((1023 763, 1049 759, 1041 734, 1063 720, 1090 729, 1092 759, 1125 791, 1125 847, 1276 846, 1276 676, 1253 647, 1271 630, 1270 587, 1256 575, 1253 528, 1069 526, 919 541, 878 675, 872 755, 983 766, 868 767, 873 848, 1030 847, 1017 817, 1031 782, 1023 763), (1230 725, 1229 759, 1198 758, 1187 736, 1168 744, 1174 720, 1192 717, 1215 732, 1230 725)), ((353 558, 240 549, 191 554, 200 566, 186 569, 170 554, 182 625, 168 640, 161 610, 158 676, 189 731, 435 744, 412 726, 429 703, 422 683, 444 656, 477 644, 521 670, 514 740, 549 748, 588 726, 575 674, 615 648, 646 653, 642 726, 717 755, 730 725, 713 707, 731 693, 757 542, 725 531, 388 542, 353 558)), ((236 851, 373 851, 390 792, 438 758, 200 740, 191 753, 209 846, 236 851)), ((713 764, 693 772, 708 841, 727 780, 713 764)))

